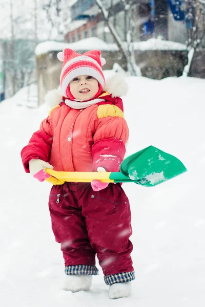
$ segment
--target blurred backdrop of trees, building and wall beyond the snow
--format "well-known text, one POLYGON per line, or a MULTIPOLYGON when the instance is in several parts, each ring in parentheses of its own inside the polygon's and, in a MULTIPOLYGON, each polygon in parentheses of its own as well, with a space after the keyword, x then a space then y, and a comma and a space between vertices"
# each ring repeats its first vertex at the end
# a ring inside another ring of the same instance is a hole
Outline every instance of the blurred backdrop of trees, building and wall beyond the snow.
POLYGON ((1 101, 36 84, 42 105, 66 47, 100 49, 105 70, 127 75, 204 78, 204 13, 203 0, 1 0, 1 101))

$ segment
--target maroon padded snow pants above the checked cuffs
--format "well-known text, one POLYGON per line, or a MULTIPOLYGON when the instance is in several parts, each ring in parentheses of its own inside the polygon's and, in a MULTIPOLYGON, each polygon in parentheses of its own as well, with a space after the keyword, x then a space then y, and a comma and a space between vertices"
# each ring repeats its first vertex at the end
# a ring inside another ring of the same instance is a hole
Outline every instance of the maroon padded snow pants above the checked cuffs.
POLYGON ((120 184, 98 192, 90 183, 53 186, 49 210, 66 267, 94 266, 97 254, 105 276, 133 271, 130 205, 120 184))

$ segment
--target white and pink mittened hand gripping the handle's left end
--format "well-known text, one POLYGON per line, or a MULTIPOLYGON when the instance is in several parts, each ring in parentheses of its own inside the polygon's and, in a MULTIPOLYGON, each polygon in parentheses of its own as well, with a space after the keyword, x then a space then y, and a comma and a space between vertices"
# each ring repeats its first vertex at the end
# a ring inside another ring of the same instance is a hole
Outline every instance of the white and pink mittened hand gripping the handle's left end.
POLYGON ((40 182, 50 177, 50 175, 45 172, 45 168, 53 169, 53 166, 40 159, 31 159, 31 161, 29 161, 30 173, 40 182))

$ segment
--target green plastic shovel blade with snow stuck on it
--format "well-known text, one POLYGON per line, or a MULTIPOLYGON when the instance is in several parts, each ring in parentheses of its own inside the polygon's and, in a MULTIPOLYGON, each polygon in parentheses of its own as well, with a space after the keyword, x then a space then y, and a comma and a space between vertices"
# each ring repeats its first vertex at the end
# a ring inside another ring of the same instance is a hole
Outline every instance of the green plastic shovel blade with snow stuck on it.
POLYGON ((120 165, 120 172, 127 178, 127 181, 121 182, 133 181, 147 187, 165 182, 185 171, 187 169, 179 159, 154 146, 134 153, 120 165))

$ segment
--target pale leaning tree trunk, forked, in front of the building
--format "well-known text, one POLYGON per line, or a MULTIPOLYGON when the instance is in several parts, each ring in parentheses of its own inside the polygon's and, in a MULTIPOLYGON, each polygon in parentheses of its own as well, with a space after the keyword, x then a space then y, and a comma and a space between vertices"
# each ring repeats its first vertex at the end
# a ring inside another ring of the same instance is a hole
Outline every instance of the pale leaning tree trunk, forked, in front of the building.
POLYGON ((128 72, 132 76, 141 76, 140 68, 137 66, 134 55, 134 43, 133 43, 133 34, 135 27, 135 14, 134 14, 134 5, 136 1, 134 0, 120 0, 122 5, 122 10, 125 12, 125 31, 126 31, 126 41, 122 41, 118 35, 116 29, 114 28, 110 17, 113 11, 113 0, 110 1, 109 9, 106 9, 101 0, 95 0, 95 3, 101 10, 103 14, 106 26, 109 28, 118 48, 121 53, 122 59, 127 65, 128 72))

